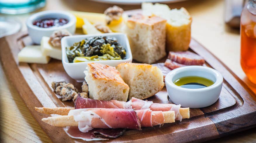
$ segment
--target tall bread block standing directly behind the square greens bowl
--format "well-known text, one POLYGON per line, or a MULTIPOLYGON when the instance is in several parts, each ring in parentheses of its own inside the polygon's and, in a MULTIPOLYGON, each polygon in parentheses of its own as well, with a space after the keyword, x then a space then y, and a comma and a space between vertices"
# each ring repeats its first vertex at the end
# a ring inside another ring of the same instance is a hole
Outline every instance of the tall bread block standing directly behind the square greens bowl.
POLYGON ((157 16, 133 15, 127 18, 124 32, 129 39, 132 57, 152 64, 166 56, 166 20, 157 16))

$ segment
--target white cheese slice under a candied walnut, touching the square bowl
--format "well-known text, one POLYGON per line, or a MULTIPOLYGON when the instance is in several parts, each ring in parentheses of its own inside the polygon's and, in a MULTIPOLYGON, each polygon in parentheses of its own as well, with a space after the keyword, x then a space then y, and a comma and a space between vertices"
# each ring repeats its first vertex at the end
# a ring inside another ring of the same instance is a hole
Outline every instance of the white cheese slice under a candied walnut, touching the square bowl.
POLYGON ((49 44, 50 37, 42 37, 41 40, 41 51, 44 55, 50 56, 51 58, 61 60, 61 48, 53 47, 49 44))

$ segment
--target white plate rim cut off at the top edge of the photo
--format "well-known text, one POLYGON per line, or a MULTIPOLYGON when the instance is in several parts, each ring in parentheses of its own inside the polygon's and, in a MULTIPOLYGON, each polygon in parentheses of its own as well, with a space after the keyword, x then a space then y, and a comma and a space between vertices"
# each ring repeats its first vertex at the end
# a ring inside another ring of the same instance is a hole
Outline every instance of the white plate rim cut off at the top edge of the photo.
POLYGON ((174 3, 179 1, 186 1, 186 0, 91 0, 91 1, 98 1, 102 3, 111 3, 111 4, 141 4, 143 2, 151 2, 151 3, 174 3))

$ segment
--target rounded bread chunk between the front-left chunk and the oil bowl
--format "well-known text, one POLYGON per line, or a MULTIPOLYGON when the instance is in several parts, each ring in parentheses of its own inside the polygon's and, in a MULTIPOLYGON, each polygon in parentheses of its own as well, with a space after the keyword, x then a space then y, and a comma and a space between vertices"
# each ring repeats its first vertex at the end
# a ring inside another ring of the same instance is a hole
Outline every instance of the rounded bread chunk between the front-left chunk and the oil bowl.
POLYGON ((164 87, 163 74, 158 67, 149 64, 121 63, 117 65, 117 70, 130 87, 129 99, 146 99, 164 87))

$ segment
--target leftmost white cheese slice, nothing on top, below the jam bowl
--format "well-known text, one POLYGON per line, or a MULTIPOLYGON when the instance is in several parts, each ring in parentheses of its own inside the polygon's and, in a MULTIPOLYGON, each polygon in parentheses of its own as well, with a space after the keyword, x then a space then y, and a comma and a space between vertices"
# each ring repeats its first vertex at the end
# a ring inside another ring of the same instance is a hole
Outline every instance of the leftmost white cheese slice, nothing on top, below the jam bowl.
POLYGON ((40 46, 26 46, 18 53, 19 62, 47 64, 50 59, 42 53, 40 46))

